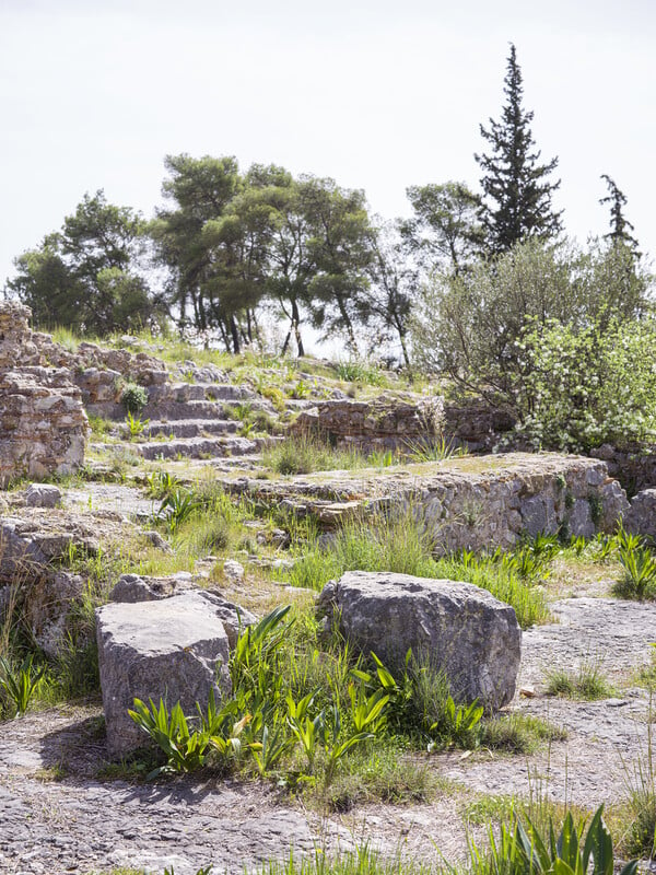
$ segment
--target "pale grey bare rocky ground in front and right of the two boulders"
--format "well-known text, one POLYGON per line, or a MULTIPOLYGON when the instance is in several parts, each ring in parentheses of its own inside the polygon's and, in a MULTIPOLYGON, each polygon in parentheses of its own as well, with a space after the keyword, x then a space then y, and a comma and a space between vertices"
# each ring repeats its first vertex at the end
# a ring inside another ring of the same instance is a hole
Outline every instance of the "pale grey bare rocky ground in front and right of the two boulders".
MULTIPOLYGON (((432 768, 470 791, 528 794, 589 807, 626 792, 641 748, 646 747, 649 702, 631 678, 649 658, 656 606, 604 598, 558 602, 560 622, 524 635, 520 684, 535 698, 515 707, 569 730, 564 742, 532 757, 477 751, 436 756, 432 768), (600 660, 618 695, 573 702, 541 695, 550 667, 600 660)), ((116 865, 195 875, 243 872, 291 848, 353 847, 366 840, 385 853, 399 848, 423 862, 440 848, 446 859, 466 848, 464 793, 445 793, 431 805, 371 806, 321 818, 270 786, 180 780, 131 785, 94 778, 106 759, 99 709, 51 709, 0 725, 0 872, 87 873, 116 865), (52 780, 62 772, 59 780, 52 780)))

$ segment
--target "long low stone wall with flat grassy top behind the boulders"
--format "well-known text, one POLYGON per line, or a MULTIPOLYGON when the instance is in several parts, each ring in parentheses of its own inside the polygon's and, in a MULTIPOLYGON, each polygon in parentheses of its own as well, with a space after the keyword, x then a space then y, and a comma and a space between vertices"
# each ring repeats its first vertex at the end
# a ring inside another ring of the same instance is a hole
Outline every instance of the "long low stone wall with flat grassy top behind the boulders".
POLYGON ((279 481, 226 478, 221 483, 290 513, 313 514, 326 527, 353 514, 410 512, 425 527, 436 553, 509 549, 523 536, 539 533, 610 533, 629 508, 604 462, 557 453, 465 456, 279 481))

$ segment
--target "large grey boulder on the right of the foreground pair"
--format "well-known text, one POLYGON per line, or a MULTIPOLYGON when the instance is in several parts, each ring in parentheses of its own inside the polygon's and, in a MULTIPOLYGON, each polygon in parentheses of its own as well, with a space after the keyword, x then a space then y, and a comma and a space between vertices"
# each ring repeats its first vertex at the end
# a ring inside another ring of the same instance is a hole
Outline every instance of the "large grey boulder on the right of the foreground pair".
POLYGON ((515 693, 522 631, 515 611, 478 586, 391 572, 351 571, 318 599, 359 651, 402 672, 409 648, 449 677, 454 696, 502 708, 515 693))

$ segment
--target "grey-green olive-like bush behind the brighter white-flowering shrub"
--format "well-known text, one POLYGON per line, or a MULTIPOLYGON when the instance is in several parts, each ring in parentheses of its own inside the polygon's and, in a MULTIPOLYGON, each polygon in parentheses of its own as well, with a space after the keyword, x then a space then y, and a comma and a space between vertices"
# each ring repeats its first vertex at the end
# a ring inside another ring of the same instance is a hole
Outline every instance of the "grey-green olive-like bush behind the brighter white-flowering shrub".
POLYGON ((555 320, 574 330, 604 328, 643 313, 647 288, 646 275, 620 246, 596 243, 582 252, 527 241, 458 276, 434 275, 411 324, 415 360, 512 405, 517 377, 526 373, 516 341, 527 318, 538 326, 555 320))

